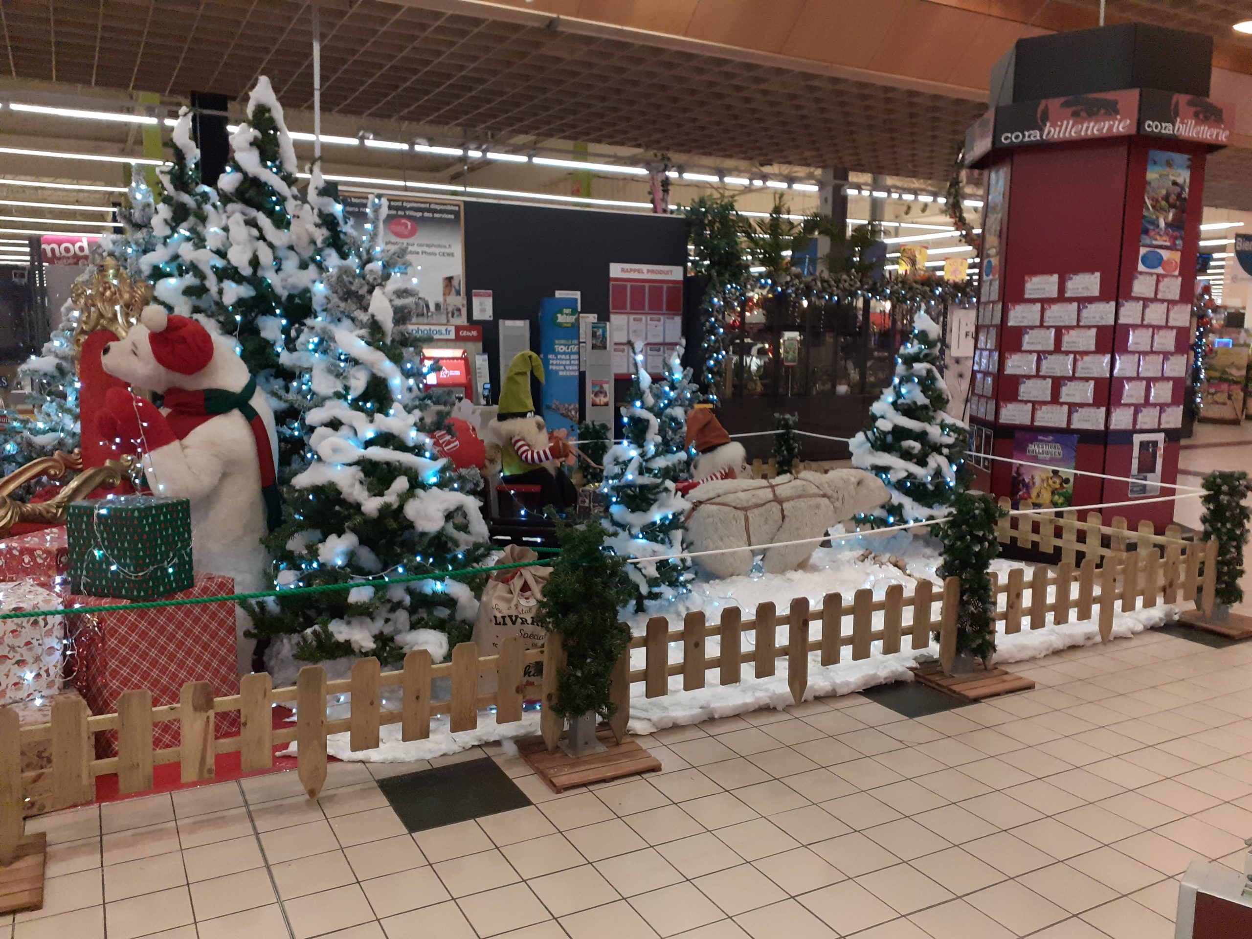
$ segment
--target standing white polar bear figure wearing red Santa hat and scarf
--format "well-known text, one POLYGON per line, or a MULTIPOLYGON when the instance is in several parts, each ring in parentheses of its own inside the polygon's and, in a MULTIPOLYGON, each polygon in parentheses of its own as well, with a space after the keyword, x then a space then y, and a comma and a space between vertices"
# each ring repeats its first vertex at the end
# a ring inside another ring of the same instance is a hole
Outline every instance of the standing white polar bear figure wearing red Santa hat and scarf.
MULTIPOLYGON (((121 388, 105 397, 105 439, 143 454, 159 496, 192 503, 195 570, 234 578, 240 593, 265 590, 269 557, 260 543, 278 525, 274 414, 235 354, 234 341, 150 305, 125 339, 101 353, 104 371, 133 388, 164 394, 158 409, 121 388)), ((238 611, 239 674, 252 671, 250 621, 238 611)))

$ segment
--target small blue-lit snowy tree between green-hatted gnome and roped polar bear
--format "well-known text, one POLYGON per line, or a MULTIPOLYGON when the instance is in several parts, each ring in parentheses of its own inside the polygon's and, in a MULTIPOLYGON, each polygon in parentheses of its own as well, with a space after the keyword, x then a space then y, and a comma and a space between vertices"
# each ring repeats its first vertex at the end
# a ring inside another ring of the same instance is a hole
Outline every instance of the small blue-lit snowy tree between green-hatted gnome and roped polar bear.
MULTIPOLYGON (((686 583, 694 576, 687 558, 646 560, 682 551, 682 521, 690 506, 674 485, 687 475, 686 418, 677 422, 682 412, 676 403, 686 391, 676 392, 670 381, 654 384, 644 368, 644 356, 634 344, 631 354, 635 378, 621 408, 623 439, 605 454, 605 481, 600 488, 608 497, 606 525, 611 537, 605 545, 622 557, 644 558, 626 566, 639 587, 635 606, 642 610, 647 600, 672 600, 686 592, 686 583)), ((681 353, 677 369, 681 379, 681 353)), ((685 379, 690 379, 690 372, 685 379)))

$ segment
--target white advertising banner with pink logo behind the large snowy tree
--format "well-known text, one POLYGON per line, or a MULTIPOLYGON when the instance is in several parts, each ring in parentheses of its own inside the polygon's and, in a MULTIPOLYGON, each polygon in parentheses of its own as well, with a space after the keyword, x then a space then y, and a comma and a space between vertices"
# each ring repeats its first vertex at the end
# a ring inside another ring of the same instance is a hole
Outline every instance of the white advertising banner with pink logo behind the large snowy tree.
MULTIPOLYGON (((344 213, 357 230, 366 220, 367 200, 344 197, 344 213)), ((387 197, 383 240, 398 244, 408 257, 409 275, 417 278, 421 302, 411 319, 396 319, 396 326, 424 323, 464 323, 464 213, 459 202, 387 197)))

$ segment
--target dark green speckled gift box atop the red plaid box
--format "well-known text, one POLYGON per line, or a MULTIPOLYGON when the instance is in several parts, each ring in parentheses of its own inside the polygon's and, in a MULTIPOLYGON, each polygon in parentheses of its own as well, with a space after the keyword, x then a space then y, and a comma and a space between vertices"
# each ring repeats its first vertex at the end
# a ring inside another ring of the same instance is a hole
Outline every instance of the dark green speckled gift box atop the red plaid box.
POLYGON ((195 582, 192 503, 167 496, 86 500, 69 507, 75 593, 156 600, 195 582))

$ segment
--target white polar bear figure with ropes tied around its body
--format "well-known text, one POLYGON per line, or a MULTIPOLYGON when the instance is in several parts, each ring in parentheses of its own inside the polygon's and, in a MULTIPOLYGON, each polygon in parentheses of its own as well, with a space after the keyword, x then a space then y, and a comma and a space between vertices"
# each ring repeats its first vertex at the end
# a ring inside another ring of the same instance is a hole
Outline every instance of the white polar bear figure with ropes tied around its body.
MULTIPOLYGON (((714 577, 734 577, 751 570, 752 546, 819 538, 833 525, 881 506, 888 491, 873 473, 831 470, 775 480, 706 482, 689 492, 687 501, 694 508, 687 516, 685 546, 695 552, 741 548, 697 553, 692 560, 714 577)), ((794 571, 818 543, 766 548, 765 572, 794 571)))

